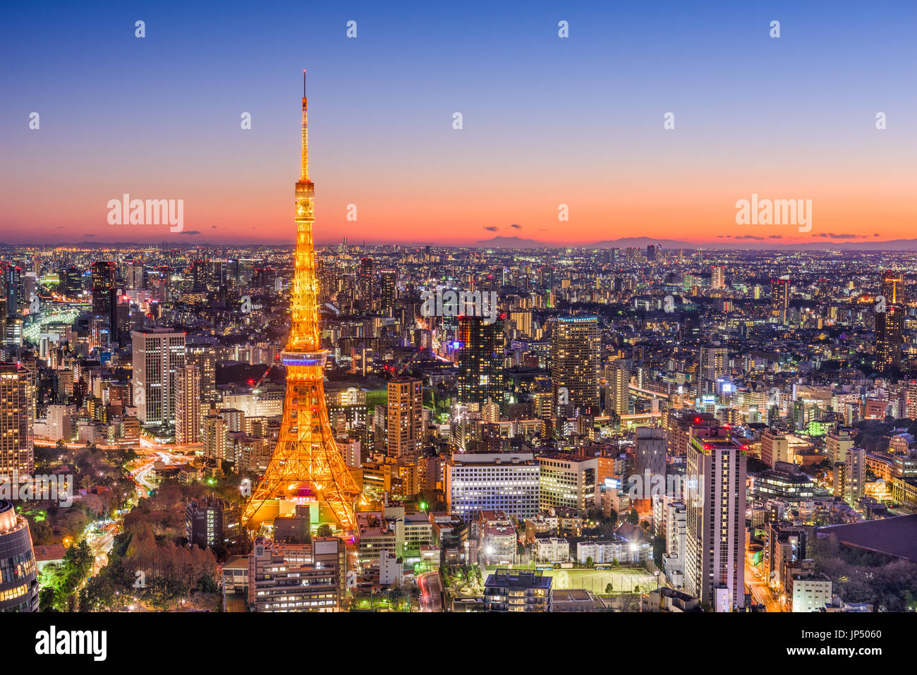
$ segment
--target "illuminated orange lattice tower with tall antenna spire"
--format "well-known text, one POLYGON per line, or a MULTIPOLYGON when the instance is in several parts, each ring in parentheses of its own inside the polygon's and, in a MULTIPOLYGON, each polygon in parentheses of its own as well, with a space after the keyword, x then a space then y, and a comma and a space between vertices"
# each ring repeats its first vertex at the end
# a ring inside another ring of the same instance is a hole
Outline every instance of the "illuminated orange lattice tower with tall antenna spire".
POLYGON ((327 350, 318 331, 318 280, 315 278, 315 185, 309 180, 309 137, 306 126, 303 71, 303 157, 296 183, 296 253, 291 293, 290 340, 281 360, 287 371, 283 420, 268 469, 252 493, 243 526, 257 529, 277 515, 292 513, 301 503, 317 505, 319 517, 356 529, 354 502, 359 488, 350 475, 328 422, 322 384, 327 350))

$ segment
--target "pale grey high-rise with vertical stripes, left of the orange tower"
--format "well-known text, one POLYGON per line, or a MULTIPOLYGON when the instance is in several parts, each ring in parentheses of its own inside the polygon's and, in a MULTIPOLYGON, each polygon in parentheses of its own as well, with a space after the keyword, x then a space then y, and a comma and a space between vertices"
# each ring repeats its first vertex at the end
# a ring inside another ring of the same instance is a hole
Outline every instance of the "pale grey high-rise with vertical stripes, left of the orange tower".
POLYGON ((171 328, 141 328, 131 333, 134 405, 142 425, 175 421, 175 389, 184 368, 185 334, 171 328))

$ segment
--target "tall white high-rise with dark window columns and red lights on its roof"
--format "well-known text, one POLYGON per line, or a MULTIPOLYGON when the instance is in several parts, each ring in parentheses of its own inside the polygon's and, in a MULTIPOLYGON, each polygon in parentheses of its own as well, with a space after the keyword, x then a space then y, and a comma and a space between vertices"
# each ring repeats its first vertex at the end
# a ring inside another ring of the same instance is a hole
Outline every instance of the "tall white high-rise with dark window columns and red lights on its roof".
POLYGON ((745 604, 747 459, 720 431, 688 444, 685 591, 731 611, 745 604))

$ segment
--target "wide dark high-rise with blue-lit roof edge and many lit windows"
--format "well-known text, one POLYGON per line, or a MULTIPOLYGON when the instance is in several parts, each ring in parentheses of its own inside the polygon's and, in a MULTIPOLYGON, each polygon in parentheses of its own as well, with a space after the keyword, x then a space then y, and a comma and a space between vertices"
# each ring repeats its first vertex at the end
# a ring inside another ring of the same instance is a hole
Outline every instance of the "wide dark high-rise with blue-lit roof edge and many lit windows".
POLYGON ((551 341, 551 382, 558 404, 599 412, 602 334, 597 316, 561 316, 551 341))

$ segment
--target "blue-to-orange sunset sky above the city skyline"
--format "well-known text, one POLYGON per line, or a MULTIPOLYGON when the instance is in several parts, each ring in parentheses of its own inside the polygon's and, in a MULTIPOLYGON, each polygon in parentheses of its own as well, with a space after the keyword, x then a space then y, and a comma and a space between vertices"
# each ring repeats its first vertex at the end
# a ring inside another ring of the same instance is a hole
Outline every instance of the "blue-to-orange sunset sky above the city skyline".
POLYGON ((303 69, 318 243, 917 237, 917 3, 499 5, 6 7, 0 242, 292 242, 303 69))

